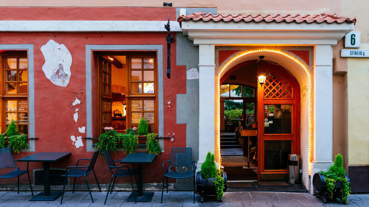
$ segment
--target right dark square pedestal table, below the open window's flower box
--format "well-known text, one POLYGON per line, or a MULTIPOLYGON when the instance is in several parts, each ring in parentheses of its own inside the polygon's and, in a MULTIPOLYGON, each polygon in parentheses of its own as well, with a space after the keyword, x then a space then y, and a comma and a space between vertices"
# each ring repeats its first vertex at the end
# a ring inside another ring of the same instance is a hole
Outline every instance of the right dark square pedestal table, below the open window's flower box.
MULTIPOLYGON (((144 192, 144 182, 142 180, 142 164, 151 164, 154 161, 156 155, 148 153, 132 153, 128 154, 123 160, 120 161, 121 164, 138 164, 138 181, 137 188, 138 192, 135 192, 137 202, 150 202, 154 192, 144 192)), ((127 202, 134 202, 133 193, 126 200, 127 202)))

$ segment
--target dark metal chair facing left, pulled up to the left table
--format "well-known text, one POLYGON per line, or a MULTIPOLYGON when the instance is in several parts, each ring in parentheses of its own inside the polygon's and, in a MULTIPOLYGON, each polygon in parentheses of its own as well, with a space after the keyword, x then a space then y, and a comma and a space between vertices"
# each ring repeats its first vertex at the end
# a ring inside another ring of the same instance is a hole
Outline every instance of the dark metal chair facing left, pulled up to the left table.
POLYGON ((74 177, 73 190, 72 190, 72 193, 74 193, 74 186, 76 184, 76 178, 78 178, 80 176, 85 176, 85 181, 86 181, 86 184, 87 184, 87 188, 89 189, 91 200, 92 200, 92 203, 93 203, 93 198, 92 198, 92 194, 91 194, 91 191, 90 191, 89 183, 87 183, 86 175, 89 175, 91 171, 93 172, 93 174, 95 176, 95 179, 96 179, 97 186, 99 187, 99 190, 101 192, 99 182, 97 182, 96 174, 95 174, 95 171, 93 169, 95 167, 95 163, 96 163, 97 157, 99 157, 100 150, 95 151, 93 153, 92 159, 79 159, 77 161, 77 166, 69 166, 69 167, 67 167, 66 174, 65 175, 62 175, 62 176, 65 176, 65 180, 64 180, 64 186, 63 186, 62 200, 60 201, 60 204, 62 204, 62 202, 63 202, 64 189, 65 189, 65 184, 67 182, 67 178, 68 177, 74 177), (86 166, 78 166, 78 163, 79 163, 80 160, 91 160, 91 161, 90 161, 90 164, 89 165, 86 165, 86 166), (78 169, 78 168, 86 168, 86 167, 87 167, 87 169, 78 169), (70 168, 69 171, 68 171, 68 168, 70 168))

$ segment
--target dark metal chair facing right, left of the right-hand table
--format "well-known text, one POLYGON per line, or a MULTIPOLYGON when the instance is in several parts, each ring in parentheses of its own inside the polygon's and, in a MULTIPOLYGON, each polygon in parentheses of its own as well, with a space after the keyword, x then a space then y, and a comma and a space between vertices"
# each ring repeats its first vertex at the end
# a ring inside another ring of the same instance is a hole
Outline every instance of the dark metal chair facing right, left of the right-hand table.
POLYGON ((110 185, 111 185, 111 181, 113 181, 113 177, 114 177, 114 182, 113 182, 113 186, 111 186, 111 191, 110 191, 110 194, 111 192, 113 191, 113 188, 114 188, 114 183, 115 183, 115 178, 122 178, 122 177, 127 177, 127 176, 130 176, 131 178, 131 185, 132 185, 132 191, 133 191, 133 197, 135 199, 135 203, 136 202, 136 196, 135 196, 135 190, 133 188, 133 182, 132 182, 132 175, 135 176, 135 179, 136 179, 136 185, 137 185, 137 178, 136 178, 136 175, 138 175, 138 169, 137 168, 134 168, 134 165, 132 164, 133 168, 130 169, 128 166, 116 166, 115 165, 115 162, 118 162, 118 161, 121 161, 121 160, 113 160, 113 157, 111 157, 111 154, 110 154, 110 151, 107 149, 107 150, 104 150, 103 151, 103 154, 104 154, 104 157, 105 157, 105 160, 106 162, 108 163, 108 167, 110 169, 110 172, 111 174, 113 174, 111 176, 111 180, 110 180, 110 183, 109 183, 109 188, 108 188, 108 192, 106 194, 106 198, 105 198, 105 203, 104 205, 106 204, 106 200, 108 199, 108 194, 109 194, 109 189, 110 189, 110 185), (119 168, 127 168, 127 169, 119 169, 119 168), (117 169, 117 171, 114 173, 113 172, 113 169, 117 169))

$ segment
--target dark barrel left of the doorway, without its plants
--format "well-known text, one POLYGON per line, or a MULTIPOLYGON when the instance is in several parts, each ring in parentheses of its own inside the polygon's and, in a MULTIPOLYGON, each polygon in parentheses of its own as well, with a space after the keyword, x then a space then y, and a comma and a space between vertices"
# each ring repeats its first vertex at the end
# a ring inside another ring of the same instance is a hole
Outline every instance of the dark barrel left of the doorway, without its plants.
MULTIPOLYGON (((227 174, 223 172, 224 179, 224 190, 223 192, 227 192, 227 174)), ((216 195, 217 191, 214 185, 215 178, 203 179, 200 172, 196 174, 196 192, 200 193, 200 202, 204 201, 204 195, 216 195)))

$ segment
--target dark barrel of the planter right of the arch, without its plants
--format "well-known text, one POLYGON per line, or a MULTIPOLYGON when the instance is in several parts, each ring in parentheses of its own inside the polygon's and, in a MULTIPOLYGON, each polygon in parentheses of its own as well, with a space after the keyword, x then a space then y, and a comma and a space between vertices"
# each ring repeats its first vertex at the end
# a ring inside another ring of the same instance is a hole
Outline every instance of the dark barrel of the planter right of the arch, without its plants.
MULTIPOLYGON (((347 175, 345 175, 345 177, 347 178, 348 182, 350 183, 350 179, 348 178, 347 175)), ((335 192, 333 194, 333 199, 337 199, 339 198, 339 196, 341 195, 341 187, 343 188, 344 183, 343 182, 336 182, 335 183, 335 192)), ((315 173, 313 176, 313 188, 315 193, 317 193, 315 195, 315 197, 319 197, 320 199, 322 199, 323 203, 327 203, 326 198, 329 197, 329 192, 327 189, 327 184, 325 183, 325 177, 324 175, 320 174, 319 172, 315 173)), ((343 202, 343 204, 346 204, 346 202, 343 202)))

